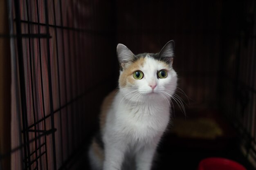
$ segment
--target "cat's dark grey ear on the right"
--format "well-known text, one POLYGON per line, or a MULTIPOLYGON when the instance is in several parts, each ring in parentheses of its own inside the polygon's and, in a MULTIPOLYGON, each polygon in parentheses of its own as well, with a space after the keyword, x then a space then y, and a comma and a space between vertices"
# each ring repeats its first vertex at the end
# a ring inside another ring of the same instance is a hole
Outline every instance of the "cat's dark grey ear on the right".
POLYGON ((174 41, 171 40, 167 42, 162 50, 159 52, 159 58, 162 58, 173 65, 173 57, 174 57, 174 41))

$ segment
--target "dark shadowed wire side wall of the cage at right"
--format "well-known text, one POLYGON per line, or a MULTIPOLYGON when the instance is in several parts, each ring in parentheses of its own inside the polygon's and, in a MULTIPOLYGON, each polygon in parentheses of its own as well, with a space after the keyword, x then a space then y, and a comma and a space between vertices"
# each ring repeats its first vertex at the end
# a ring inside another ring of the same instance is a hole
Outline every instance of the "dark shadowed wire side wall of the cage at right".
POLYGON ((220 104, 256 167, 256 2, 230 4, 223 3, 220 104))

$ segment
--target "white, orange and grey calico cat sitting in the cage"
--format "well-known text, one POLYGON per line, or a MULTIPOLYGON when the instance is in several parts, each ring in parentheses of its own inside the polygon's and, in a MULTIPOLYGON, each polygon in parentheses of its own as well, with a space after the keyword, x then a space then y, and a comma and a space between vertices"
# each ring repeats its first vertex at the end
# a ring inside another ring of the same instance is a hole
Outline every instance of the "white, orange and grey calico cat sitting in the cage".
POLYGON ((150 170, 157 144, 168 125, 171 97, 177 86, 174 41, 159 53, 134 55, 117 45, 119 89, 103 101, 100 132, 89 149, 93 170, 123 170, 127 155, 132 170, 150 170))

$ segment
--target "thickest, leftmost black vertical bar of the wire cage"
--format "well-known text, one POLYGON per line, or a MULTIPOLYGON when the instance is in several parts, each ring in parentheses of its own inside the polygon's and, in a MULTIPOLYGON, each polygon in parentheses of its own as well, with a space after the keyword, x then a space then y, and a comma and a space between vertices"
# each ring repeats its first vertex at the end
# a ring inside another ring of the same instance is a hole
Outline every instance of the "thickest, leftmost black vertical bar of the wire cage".
MULTIPOLYGON (((22 35, 21 35, 21 21, 20 21, 20 2, 14 0, 15 17, 16 17, 16 33, 17 33, 17 52, 18 52, 18 64, 19 64, 19 77, 20 77, 20 97, 21 97, 21 112, 22 112, 22 126, 23 126, 23 142, 24 142, 24 155, 27 157, 30 153, 29 149, 29 134, 27 129, 27 102, 26 102, 26 88, 25 88, 25 75, 24 75, 24 62, 22 51, 22 35)), ((30 157, 28 157, 30 162, 30 157)), ((25 163, 25 168, 31 170, 31 167, 25 163)))

